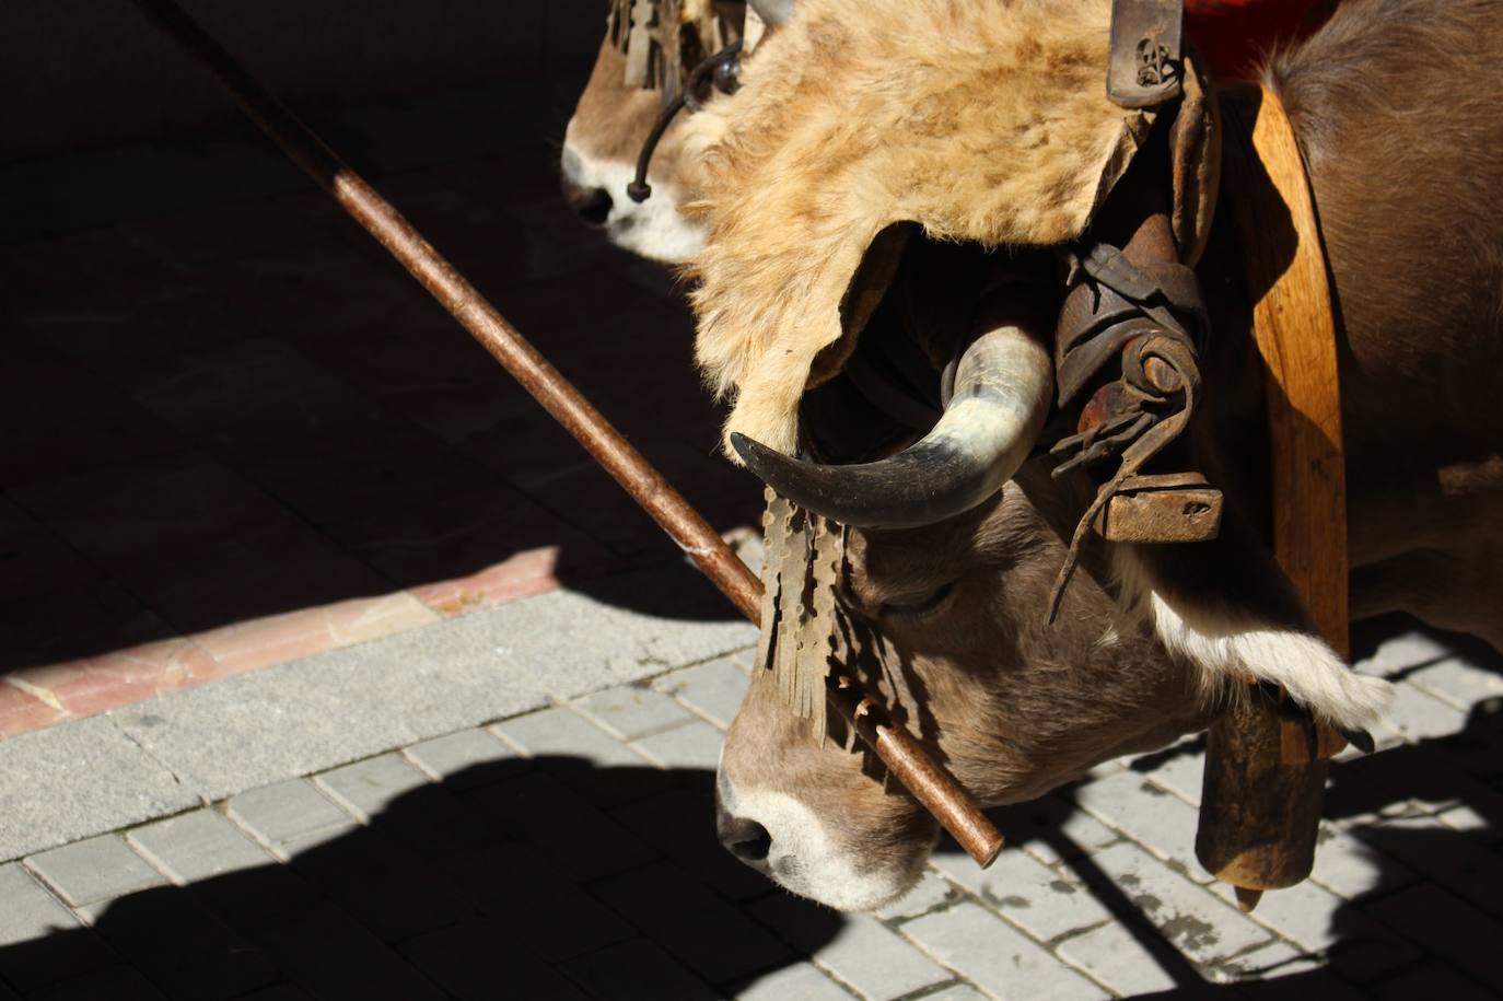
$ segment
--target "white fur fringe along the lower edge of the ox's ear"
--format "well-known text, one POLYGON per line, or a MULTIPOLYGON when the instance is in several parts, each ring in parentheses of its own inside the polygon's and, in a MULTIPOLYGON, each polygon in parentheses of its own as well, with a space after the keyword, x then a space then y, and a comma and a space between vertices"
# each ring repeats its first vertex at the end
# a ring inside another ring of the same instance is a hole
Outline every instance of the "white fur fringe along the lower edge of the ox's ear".
POLYGON ((1189 622, 1156 591, 1148 592, 1148 609, 1159 640, 1171 652, 1207 670, 1284 685, 1290 697, 1336 726, 1371 726, 1393 696, 1387 681, 1351 670, 1336 651, 1308 633, 1210 612, 1189 622))

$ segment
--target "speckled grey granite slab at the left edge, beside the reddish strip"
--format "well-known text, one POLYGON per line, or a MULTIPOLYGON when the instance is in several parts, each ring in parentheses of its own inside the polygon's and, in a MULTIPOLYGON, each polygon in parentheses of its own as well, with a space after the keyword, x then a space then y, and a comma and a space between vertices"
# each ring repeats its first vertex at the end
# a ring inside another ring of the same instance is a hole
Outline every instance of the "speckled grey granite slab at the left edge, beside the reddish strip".
POLYGON ((0 741, 0 861, 200 804, 98 715, 0 741))

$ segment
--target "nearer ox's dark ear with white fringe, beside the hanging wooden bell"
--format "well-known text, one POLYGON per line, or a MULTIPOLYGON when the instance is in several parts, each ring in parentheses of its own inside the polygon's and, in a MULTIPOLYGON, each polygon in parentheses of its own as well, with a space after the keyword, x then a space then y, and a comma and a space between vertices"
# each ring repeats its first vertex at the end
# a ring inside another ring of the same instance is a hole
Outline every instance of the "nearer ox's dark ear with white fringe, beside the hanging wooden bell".
POLYGON ((1118 546, 1114 562, 1123 598, 1172 655, 1201 669, 1210 694, 1232 679, 1269 681, 1347 730, 1366 729, 1387 705, 1389 682, 1356 673, 1320 637, 1288 577, 1229 508, 1213 541, 1118 546))

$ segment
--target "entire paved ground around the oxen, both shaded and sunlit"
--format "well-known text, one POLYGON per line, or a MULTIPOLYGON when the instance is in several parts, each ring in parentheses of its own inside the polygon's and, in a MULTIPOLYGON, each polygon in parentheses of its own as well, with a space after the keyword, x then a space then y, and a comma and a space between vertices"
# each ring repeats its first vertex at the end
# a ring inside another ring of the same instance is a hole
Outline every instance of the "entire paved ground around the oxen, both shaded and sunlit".
MULTIPOLYGON (((682 308, 573 227, 543 126, 502 126, 550 93, 326 131, 736 525, 759 490, 712 457, 682 308)), ((113 150, 108 183, 6 167, 0 669, 78 684, 12 675, 60 711, 0 739, 0 1001, 1503 989, 1503 670, 1404 624, 1359 637, 1399 681, 1384 750, 1338 764, 1314 879, 1250 917, 1193 860, 1196 741, 999 810, 990 870, 942 846, 876 915, 741 867, 711 810, 750 627, 242 140, 113 150), (246 663, 245 619, 388 594, 400 631, 246 663)))

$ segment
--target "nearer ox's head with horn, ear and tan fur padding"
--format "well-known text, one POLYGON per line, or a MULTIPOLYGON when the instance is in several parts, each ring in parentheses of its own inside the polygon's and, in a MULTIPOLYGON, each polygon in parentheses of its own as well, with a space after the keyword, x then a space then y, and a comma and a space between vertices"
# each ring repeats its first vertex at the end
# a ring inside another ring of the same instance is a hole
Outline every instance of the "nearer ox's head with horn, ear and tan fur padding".
MULTIPOLYGON (((1172 105, 1108 99, 1109 9, 800 0, 685 137, 706 177, 697 350, 735 398, 729 451, 845 526, 836 600, 872 652, 848 669, 987 806, 1199 729, 1246 690, 1228 679, 1342 727, 1386 694, 1315 636, 1237 504, 1213 541, 1085 546, 1049 621, 1097 496, 1045 454, 1088 395, 1051 391, 1084 248, 1189 274, 1216 197, 1189 62, 1172 105)), ((1231 488, 1223 404, 1177 448, 1231 488)), ((721 840, 794 891, 879 906, 933 822, 779 687, 758 670, 727 733, 721 840)))

